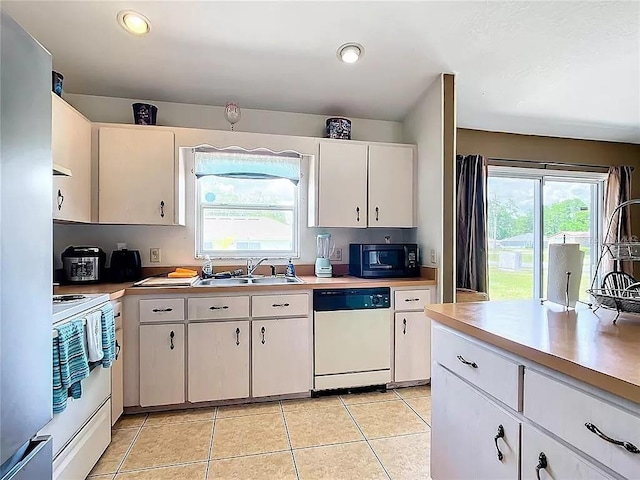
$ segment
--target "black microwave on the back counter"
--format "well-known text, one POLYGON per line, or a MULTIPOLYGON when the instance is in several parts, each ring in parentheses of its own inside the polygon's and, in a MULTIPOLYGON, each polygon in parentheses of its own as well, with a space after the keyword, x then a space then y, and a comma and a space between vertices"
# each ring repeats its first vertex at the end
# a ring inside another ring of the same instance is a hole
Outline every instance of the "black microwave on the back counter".
POLYGON ((351 243, 349 275, 360 278, 419 277, 418 245, 351 243))

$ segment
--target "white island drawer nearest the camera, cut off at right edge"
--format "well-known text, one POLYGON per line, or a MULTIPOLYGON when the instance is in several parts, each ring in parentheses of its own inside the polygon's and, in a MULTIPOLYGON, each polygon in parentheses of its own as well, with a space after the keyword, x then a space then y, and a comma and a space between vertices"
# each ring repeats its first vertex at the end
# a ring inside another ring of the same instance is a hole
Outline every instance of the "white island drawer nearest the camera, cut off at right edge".
POLYGON ((640 448, 639 416, 529 369, 524 378, 524 414, 623 477, 638 478, 640 454, 603 440, 585 424, 640 448))

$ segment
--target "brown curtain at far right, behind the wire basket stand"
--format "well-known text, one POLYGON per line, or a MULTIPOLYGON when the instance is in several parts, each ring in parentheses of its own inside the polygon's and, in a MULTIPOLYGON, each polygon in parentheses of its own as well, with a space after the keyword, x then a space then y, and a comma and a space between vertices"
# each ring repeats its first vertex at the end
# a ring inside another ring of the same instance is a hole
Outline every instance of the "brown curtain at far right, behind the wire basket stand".
MULTIPOLYGON (((607 177, 607 191, 604 197, 604 227, 603 235, 607 235, 609 220, 618 205, 631 199, 631 174, 632 167, 609 167, 607 177)), ((603 242, 631 241, 631 208, 623 207, 613 217, 609 235, 603 238, 603 242)), ((603 258, 603 273, 613 270, 633 275, 633 264, 629 261, 615 262, 609 255, 603 258)))

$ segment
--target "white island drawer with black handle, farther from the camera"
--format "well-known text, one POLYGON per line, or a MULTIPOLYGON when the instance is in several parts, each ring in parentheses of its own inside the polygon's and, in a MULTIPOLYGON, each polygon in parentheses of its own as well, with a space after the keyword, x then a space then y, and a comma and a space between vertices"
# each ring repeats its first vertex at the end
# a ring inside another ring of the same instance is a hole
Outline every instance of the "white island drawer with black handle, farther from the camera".
POLYGON ((440 326, 433 328, 433 360, 514 410, 522 409, 522 365, 440 326))

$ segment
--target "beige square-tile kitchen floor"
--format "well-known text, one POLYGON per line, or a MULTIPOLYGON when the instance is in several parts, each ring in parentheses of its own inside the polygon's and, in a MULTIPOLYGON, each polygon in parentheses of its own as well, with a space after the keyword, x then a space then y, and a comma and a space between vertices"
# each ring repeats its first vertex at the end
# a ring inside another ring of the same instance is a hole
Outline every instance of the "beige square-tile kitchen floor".
POLYGON ((126 415, 89 479, 429 479, 430 387, 126 415))

